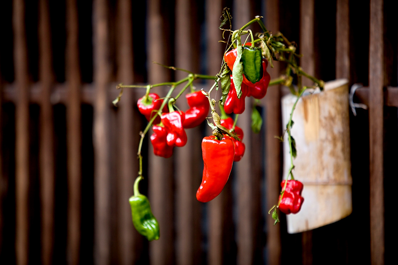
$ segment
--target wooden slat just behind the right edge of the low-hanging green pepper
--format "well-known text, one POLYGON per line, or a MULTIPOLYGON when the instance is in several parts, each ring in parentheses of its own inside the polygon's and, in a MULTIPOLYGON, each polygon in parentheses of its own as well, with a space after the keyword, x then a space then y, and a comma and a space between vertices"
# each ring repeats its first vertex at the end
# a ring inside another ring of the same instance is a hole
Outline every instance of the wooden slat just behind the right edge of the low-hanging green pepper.
MULTIPOLYGON (((168 64, 166 53, 171 47, 166 42, 167 29, 163 17, 164 12, 165 10, 161 9, 160 0, 148 3, 148 82, 150 84, 169 80, 165 68, 152 64, 153 61, 168 64)), ((166 95, 163 88, 151 91, 166 95)), ((151 130, 150 133, 152 133, 151 130)), ((148 167, 148 195, 153 214, 160 226, 160 239, 149 244, 149 258, 153 265, 174 264, 173 158, 165 159, 155 156, 150 143, 148 154, 148 165, 150 165, 148 167)))

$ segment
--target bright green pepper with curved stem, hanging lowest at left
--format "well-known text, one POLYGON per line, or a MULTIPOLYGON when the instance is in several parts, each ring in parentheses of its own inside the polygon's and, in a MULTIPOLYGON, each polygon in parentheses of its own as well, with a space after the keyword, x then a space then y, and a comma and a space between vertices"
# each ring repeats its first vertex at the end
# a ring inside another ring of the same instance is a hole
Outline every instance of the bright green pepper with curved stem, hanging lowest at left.
POLYGON ((138 191, 138 183, 142 177, 137 177, 134 182, 134 196, 129 199, 133 225, 138 233, 145 236, 149 241, 159 239, 159 223, 153 216, 151 205, 145 195, 138 191))

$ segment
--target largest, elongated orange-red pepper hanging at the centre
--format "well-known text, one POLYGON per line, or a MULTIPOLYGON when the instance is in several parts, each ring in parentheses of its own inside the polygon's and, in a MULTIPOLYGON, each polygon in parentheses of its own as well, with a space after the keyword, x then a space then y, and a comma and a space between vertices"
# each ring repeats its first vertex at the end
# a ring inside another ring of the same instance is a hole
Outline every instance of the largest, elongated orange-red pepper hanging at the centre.
POLYGON ((231 173, 234 144, 229 136, 217 140, 215 136, 202 140, 203 177, 196 198, 208 202, 220 194, 231 173))

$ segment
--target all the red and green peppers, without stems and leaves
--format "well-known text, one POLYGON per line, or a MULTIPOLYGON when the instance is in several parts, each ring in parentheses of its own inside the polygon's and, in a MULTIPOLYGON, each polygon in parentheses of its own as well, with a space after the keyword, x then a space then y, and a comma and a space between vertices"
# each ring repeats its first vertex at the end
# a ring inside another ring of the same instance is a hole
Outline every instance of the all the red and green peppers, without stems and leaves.
MULTIPOLYGON (((224 54, 224 61, 228 68, 233 71, 237 58, 237 49, 224 54)), ((237 136, 236 139, 227 134, 217 131, 209 137, 204 137, 201 143, 203 158, 202 182, 198 188, 196 197, 201 202, 208 202, 220 194, 226 184, 232 170, 233 162, 242 159, 245 153, 243 130, 235 126, 235 122, 226 113, 241 114, 245 110, 246 96, 253 96, 256 99, 263 98, 267 93, 270 83, 270 75, 267 72, 268 61, 262 57, 260 48, 254 47, 252 43, 246 43, 242 47, 241 62, 243 65, 243 77, 241 94, 238 96, 231 77, 230 88, 225 101, 220 106, 222 115, 220 126, 237 136), (239 140, 237 140, 239 139, 239 140)), ((169 100, 169 106, 160 110, 163 99, 155 93, 146 94, 137 102, 139 111, 148 121, 153 119, 153 134, 151 143, 154 154, 164 158, 173 155, 173 148, 183 147, 187 143, 185 129, 194 128, 202 123, 209 111, 208 98, 201 92, 191 92, 186 95, 189 109, 175 111, 173 103, 169 100), (153 118, 157 112, 161 115, 153 118)), ((231 135, 232 136, 232 135, 231 135)), ((134 183, 134 196, 130 197, 131 212, 134 227, 137 231, 147 237, 149 241, 159 239, 159 224, 151 212, 148 198, 138 191, 138 183, 142 177, 138 177, 134 183)), ((297 180, 284 180, 281 183, 282 192, 279 198, 278 207, 285 214, 297 213, 303 202, 301 191, 303 185, 297 180)), ((274 218, 275 219, 275 218, 274 218)))

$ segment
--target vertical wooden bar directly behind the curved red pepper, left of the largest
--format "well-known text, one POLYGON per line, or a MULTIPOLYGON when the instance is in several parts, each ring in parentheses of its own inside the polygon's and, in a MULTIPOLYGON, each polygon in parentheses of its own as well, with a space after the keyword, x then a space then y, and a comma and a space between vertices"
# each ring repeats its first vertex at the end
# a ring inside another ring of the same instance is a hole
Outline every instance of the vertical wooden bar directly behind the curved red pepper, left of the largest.
MULTIPOLYGON (((199 51, 195 41, 196 23, 195 2, 189 0, 176 1, 176 66, 193 72, 198 71, 199 51)), ((187 73, 176 72, 176 80, 183 79, 187 73)), ((180 90, 180 89, 178 89, 180 90)), ((188 90, 186 93, 189 93, 188 90)), ((177 105, 188 109, 184 93, 177 105)), ((176 212, 177 228, 176 262, 179 265, 198 264, 200 253, 200 203, 196 199, 196 190, 200 182, 199 170, 196 165, 201 159, 201 152, 193 152, 196 143, 201 142, 199 128, 186 130, 189 141, 182 148, 175 149, 176 163, 176 212)))

